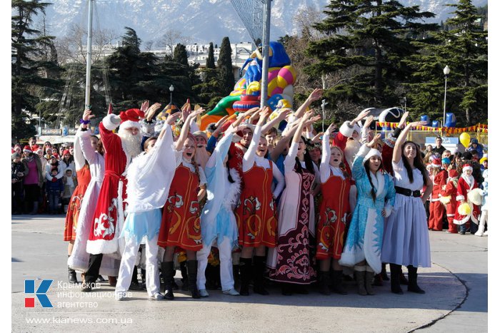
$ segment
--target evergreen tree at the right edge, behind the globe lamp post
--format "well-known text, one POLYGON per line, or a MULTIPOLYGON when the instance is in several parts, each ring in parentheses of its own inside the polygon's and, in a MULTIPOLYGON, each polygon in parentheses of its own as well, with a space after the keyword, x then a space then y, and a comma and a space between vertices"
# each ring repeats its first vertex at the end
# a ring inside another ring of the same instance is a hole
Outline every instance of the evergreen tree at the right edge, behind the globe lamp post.
POLYGON ((443 68, 451 69, 446 93, 446 112, 453 112, 459 125, 485 121, 487 109, 488 45, 480 16, 470 0, 460 0, 454 17, 446 20, 449 31, 416 41, 421 53, 409 58, 414 80, 409 83, 411 104, 431 118, 442 119, 443 68), (473 112, 474 111, 474 112, 473 112))

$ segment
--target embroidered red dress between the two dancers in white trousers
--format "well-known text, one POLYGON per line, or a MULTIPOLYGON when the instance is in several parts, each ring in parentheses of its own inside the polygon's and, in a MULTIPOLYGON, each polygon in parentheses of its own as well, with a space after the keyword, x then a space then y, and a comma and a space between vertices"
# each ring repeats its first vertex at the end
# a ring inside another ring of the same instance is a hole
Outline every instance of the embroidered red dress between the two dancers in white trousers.
POLYGON ((191 251, 198 251, 203 247, 198 203, 199 185, 199 176, 188 166, 179 164, 161 217, 159 246, 174 246, 191 251))

